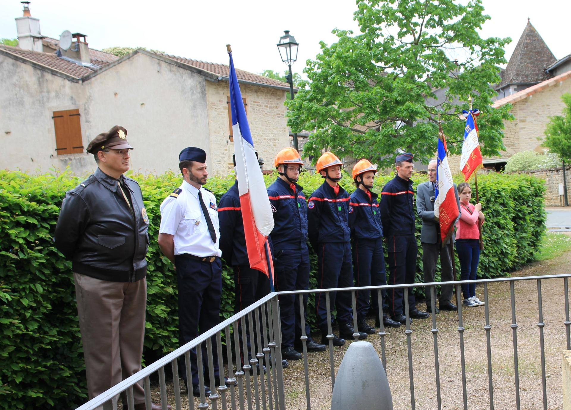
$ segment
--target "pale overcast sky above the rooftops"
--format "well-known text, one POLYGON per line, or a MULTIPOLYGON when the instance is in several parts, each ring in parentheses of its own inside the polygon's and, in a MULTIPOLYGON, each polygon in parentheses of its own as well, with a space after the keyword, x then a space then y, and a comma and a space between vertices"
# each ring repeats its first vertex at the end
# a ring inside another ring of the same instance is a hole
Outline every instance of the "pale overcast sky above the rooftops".
MULTIPOLYGON (((484 0, 481 37, 511 37, 509 59, 518 38, 531 22, 556 58, 571 53, 569 0, 484 0)), ((358 31, 353 0, 289 1, 141 1, 32 0, 31 15, 39 18, 42 34, 59 38, 64 30, 87 34, 91 48, 143 46, 214 63, 228 64, 227 43, 236 67, 260 73, 286 69, 276 43, 290 30, 300 44, 293 71, 301 73, 308 58, 320 52, 319 41, 336 41, 335 28, 358 31)), ((0 0, 0 38, 17 37, 15 17, 22 15, 18 0, 0 0)))

